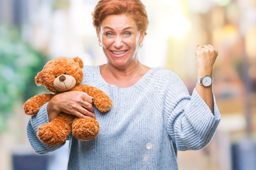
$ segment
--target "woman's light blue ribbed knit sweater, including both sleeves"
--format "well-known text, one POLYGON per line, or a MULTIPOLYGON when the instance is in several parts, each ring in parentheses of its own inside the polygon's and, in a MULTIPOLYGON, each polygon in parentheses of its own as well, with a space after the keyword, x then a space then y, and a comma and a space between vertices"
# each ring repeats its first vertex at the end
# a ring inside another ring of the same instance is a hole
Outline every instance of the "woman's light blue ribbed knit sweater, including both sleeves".
MULTIPOLYGON (((215 98, 213 115, 196 90, 189 96, 174 72, 151 68, 124 89, 107 84, 99 67, 85 67, 84 74, 82 84, 105 91, 113 106, 108 113, 95 108, 100 123, 95 140, 70 135, 68 169, 178 169, 177 149, 201 149, 213 138, 220 121, 215 98)), ((38 126, 48 122, 46 106, 28 122, 28 139, 38 154, 61 147, 36 137, 38 126)))

